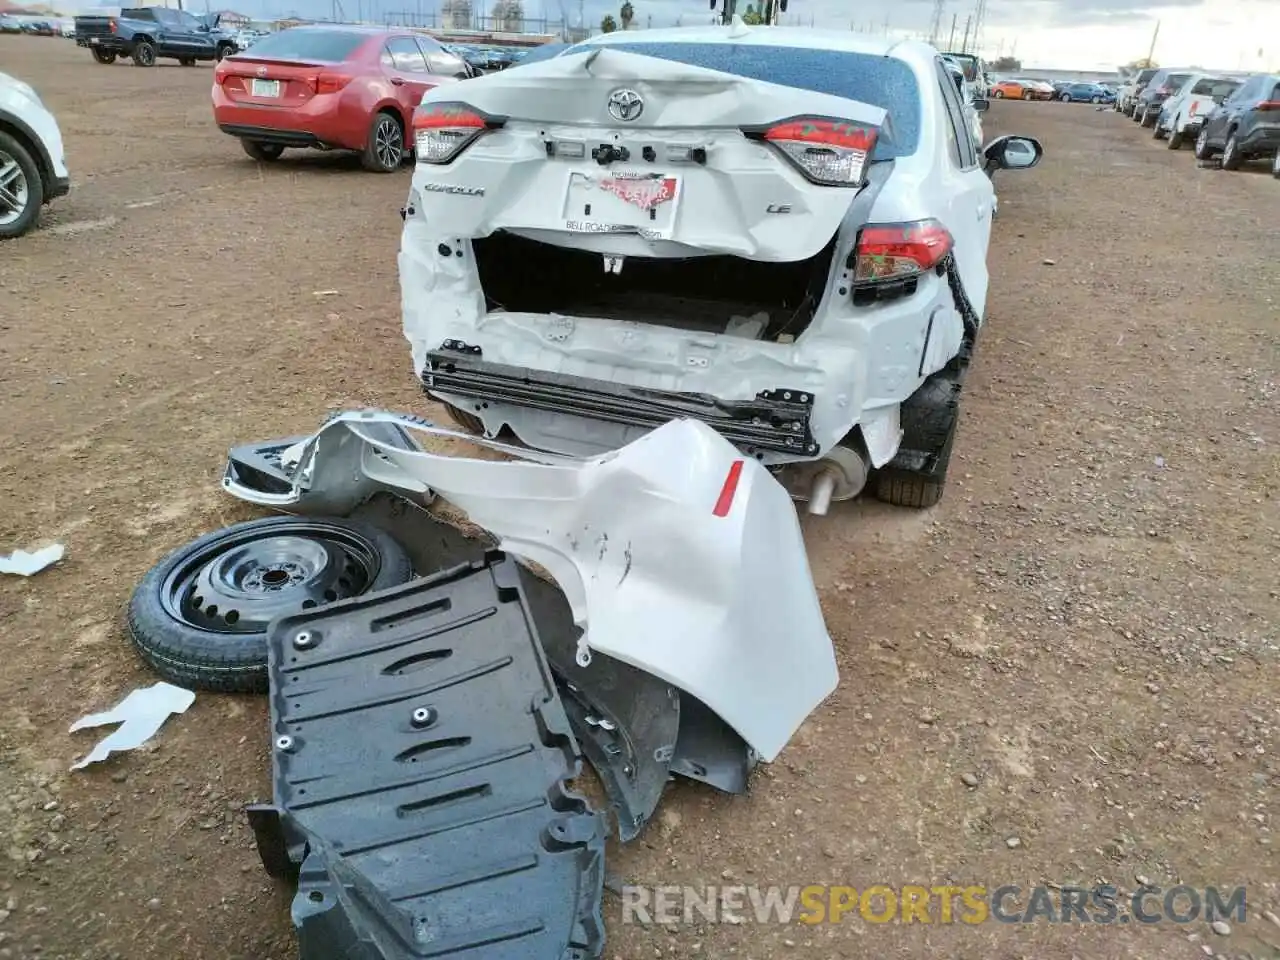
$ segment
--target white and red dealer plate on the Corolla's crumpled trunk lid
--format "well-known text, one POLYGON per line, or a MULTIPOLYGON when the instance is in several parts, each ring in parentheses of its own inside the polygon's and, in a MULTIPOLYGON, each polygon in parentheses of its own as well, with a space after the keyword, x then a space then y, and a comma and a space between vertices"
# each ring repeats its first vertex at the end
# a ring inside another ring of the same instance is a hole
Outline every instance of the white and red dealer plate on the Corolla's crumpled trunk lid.
POLYGON ((573 233, 637 233, 671 239, 680 206, 680 178, 658 173, 579 173, 564 191, 564 229, 573 233))

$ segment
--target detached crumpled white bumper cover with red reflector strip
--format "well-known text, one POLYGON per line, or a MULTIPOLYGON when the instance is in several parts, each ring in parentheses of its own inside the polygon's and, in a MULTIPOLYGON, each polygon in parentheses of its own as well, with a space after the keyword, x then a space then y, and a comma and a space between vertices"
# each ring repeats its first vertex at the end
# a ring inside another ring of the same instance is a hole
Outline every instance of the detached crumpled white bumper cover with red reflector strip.
POLYGON ((772 760, 836 687, 836 660, 786 490, 709 426, 677 420, 602 457, 539 454, 385 412, 343 413, 291 448, 292 489, 224 488, 294 512, 376 489, 435 493, 541 564, 591 650, 692 694, 772 760), (448 457, 413 434, 518 461, 448 457))

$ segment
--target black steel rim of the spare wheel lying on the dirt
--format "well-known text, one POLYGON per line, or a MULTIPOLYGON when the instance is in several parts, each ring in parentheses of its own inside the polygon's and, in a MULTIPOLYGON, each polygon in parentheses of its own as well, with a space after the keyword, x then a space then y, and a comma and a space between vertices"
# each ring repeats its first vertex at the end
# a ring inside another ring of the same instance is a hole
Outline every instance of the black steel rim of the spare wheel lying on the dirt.
POLYGON ((160 589, 165 612, 214 634, 261 634, 276 617, 360 596, 381 563, 365 538, 326 524, 246 530, 187 557, 160 589))

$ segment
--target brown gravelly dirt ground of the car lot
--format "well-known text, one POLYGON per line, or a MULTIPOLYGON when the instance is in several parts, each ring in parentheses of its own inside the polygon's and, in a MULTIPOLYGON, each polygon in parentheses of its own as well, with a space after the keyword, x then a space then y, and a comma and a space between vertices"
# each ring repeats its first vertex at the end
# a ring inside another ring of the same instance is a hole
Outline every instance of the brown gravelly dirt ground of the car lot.
MULTIPOLYGON (((227 448, 332 410, 424 411, 398 319, 408 173, 251 163, 211 72, 0 37, 73 177, 0 250, 0 957, 285 960, 289 892, 241 814, 262 699, 201 694, 84 772, 67 727, 152 682, 120 613, 252 516, 227 448), (337 291, 321 296, 321 291, 337 291)), ((1114 113, 997 104, 988 325, 952 484, 806 520, 841 685, 745 797, 673 783, 609 870, 643 884, 1248 888, 1178 924, 622 923, 607 957, 1280 956, 1280 183, 1198 169, 1114 113), (1271 918, 1267 918, 1267 913, 1271 918)), ((780 639, 785 644, 785 639, 780 639)))

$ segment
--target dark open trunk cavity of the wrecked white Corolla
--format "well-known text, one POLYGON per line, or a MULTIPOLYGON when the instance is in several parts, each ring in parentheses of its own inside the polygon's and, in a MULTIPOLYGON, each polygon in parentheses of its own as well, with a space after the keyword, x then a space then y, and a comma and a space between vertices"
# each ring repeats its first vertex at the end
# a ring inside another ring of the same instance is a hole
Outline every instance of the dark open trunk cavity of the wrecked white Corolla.
POLYGON ((585 250, 498 230, 474 241, 489 310, 599 316, 750 339, 796 337, 822 301, 835 238, 815 256, 625 257, 621 271, 585 250))

